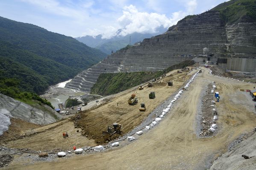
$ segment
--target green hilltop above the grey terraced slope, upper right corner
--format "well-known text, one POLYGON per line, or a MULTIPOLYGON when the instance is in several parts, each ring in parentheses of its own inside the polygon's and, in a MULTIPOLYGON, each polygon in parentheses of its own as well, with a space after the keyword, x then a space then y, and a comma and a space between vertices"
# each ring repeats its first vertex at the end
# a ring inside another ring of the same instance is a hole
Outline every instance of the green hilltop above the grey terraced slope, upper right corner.
POLYGON ((256 22, 256 1, 255 0, 230 0, 221 3, 212 11, 220 11, 221 17, 228 24, 242 22, 256 22))

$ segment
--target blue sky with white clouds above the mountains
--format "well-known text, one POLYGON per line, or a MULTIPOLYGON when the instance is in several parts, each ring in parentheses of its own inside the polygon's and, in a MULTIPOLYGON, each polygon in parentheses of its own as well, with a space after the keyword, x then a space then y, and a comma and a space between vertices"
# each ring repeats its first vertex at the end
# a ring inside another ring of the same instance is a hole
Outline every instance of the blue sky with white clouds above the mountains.
MULTIPOLYGON (((0 0, 0 16, 71 37, 166 29, 225 0, 0 0)), ((226 0, 227 1, 227 0, 226 0)))

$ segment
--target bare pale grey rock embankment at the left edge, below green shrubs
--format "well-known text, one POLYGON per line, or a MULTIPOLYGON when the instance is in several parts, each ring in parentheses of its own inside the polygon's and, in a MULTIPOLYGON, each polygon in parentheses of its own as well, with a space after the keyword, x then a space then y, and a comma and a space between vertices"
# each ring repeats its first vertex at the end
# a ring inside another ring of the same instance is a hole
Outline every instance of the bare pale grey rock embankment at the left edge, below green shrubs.
POLYGON ((11 125, 11 118, 46 125, 61 119, 61 116, 47 105, 37 108, 37 106, 31 106, 0 94, 0 135, 8 130, 9 125, 11 125))

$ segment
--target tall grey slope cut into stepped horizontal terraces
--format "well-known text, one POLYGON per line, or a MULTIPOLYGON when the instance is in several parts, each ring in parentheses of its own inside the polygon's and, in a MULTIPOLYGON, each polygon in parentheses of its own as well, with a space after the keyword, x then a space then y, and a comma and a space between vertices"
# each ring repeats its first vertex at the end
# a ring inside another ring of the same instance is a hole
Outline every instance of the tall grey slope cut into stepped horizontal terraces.
POLYGON ((89 93, 101 73, 157 71, 205 53, 215 58, 255 57, 256 23, 227 25, 218 11, 185 17, 164 34, 109 55, 65 87, 89 93))

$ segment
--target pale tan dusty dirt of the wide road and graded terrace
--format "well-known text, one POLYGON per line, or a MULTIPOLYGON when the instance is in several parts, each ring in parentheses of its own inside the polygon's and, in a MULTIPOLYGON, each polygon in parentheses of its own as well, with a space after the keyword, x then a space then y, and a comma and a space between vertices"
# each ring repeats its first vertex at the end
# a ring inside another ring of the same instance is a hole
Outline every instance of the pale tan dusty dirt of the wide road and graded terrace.
MULTIPOLYGON (((181 74, 179 75, 182 76, 181 74)), ((145 115, 156 107, 156 103, 159 104, 166 98, 165 96, 172 93, 172 90, 175 91, 178 88, 175 86, 178 84, 182 84, 182 77, 179 77, 177 82, 174 81, 174 86, 172 87, 159 85, 161 88, 154 86, 153 88, 146 88, 143 91, 118 94, 118 98, 113 98, 109 104, 103 105, 101 108, 93 110, 90 113, 84 113, 88 115, 86 116, 86 123, 94 120, 102 120, 103 118, 102 123, 91 126, 94 126, 94 129, 99 129, 99 131, 102 129, 105 130, 105 125, 112 124, 115 121, 121 123, 124 127, 123 131, 126 131, 128 127, 136 126, 135 122, 141 122, 145 115), (156 92, 156 99, 148 99, 150 91, 156 92), (146 103, 146 112, 139 112, 139 105, 127 105, 127 99, 132 93, 138 96, 139 103, 146 103), (117 102, 120 102, 118 106, 117 102)), ((252 84, 214 77, 209 75, 207 70, 203 69, 203 73, 198 74, 198 77, 191 83, 188 91, 182 94, 171 112, 165 116, 165 119, 157 127, 144 133, 138 140, 131 142, 131 144, 116 150, 74 156, 70 159, 57 159, 53 162, 29 164, 26 161, 13 161, 8 169, 205 170, 209 167, 212 158, 224 153, 227 150, 228 144, 238 138, 241 133, 250 132, 256 125, 256 113, 253 108, 255 102, 252 102, 251 97, 246 92, 239 90, 252 88, 252 84), (197 105, 200 102, 199 99, 202 89, 212 81, 216 82, 218 89, 216 91, 219 91, 221 96, 220 102, 216 103, 219 117, 218 126, 221 130, 214 137, 197 139, 195 136, 197 105)), ((67 122, 68 124, 69 122, 67 122)), ((56 129, 49 131, 47 134, 51 135, 50 133, 54 131, 56 129)), ((47 135, 42 133, 41 138, 43 136, 47 135)), ((54 139, 55 137, 52 136, 52 138, 54 139)), ((26 145, 25 140, 23 143, 19 143, 19 141, 13 142, 12 146, 17 147, 18 144, 26 145)), ((56 142, 59 141, 56 139, 56 142)), ((47 143, 47 140, 44 142, 38 141, 38 143, 43 145, 47 143)), ((33 147, 32 143, 31 147, 33 147)))

